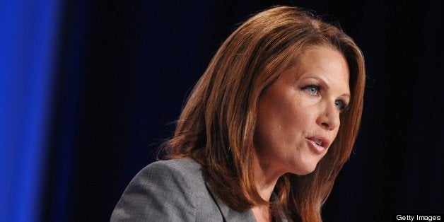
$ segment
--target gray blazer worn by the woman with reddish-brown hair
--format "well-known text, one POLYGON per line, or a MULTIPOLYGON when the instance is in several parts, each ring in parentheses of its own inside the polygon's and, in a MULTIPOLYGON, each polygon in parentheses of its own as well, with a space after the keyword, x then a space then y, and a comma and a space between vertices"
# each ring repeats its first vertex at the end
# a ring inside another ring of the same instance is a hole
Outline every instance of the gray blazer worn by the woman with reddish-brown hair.
POLYGON ((251 210, 238 212, 218 199, 191 159, 160 160, 141 170, 112 211, 111 221, 122 220, 256 221, 251 210))

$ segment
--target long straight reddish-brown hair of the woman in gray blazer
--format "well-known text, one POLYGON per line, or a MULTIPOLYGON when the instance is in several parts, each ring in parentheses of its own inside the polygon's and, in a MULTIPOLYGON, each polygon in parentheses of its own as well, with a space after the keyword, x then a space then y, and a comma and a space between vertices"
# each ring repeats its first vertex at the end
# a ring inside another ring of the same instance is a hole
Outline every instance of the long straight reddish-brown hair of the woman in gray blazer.
POLYGON ((315 171, 279 178, 272 205, 294 221, 322 221, 321 206, 358 135, 364 60, 351 37, 299 8, 279 6, 257 13, 223 42, 189 95, 175 135, 165 144, 166 158, 196 160, 218 198, 237 211, 270 204, 259 196, 252 173, 257 104, 304 49, 319 45, 346 58, 350 108, 341 113, 337 138, 315 171))

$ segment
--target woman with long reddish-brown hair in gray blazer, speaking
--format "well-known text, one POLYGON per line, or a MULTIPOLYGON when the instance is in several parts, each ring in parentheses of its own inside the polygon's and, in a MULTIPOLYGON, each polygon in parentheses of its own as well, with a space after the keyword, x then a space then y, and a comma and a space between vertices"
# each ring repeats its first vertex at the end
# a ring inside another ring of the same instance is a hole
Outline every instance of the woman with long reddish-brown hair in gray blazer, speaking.
POLYGON ((351 37, 298 8, 258 13, 223 42, 165 159, 134 177, 112 221, 322 221, 361 122, 351 37))

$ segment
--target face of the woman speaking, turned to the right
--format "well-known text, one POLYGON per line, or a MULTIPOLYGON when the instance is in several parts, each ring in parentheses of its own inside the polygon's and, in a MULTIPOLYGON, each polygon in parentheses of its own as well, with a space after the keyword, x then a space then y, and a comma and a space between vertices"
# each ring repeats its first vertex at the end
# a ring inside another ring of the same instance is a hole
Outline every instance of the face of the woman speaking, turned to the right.
POLYGON ((309 47, 259 98, 255 151, 279 176, 315 170, 350 100, 349 67, 330 47, 309 47))

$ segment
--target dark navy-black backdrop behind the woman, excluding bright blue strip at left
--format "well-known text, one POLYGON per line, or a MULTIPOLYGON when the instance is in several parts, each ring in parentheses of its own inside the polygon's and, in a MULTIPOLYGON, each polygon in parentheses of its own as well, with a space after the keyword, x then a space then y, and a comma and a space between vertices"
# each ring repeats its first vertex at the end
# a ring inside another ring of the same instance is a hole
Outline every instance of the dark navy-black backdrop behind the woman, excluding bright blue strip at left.
POLYGON ((340 23, 366 58, 361 132, 325 221, 444 214, 443 1, 66 1, 40 218, 109 220, 221 42, 277 4, 340 23))

